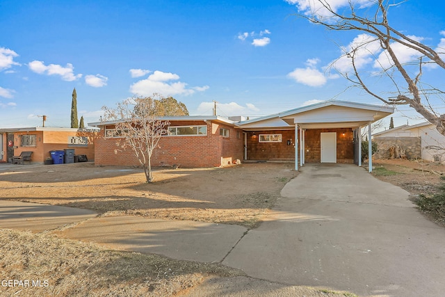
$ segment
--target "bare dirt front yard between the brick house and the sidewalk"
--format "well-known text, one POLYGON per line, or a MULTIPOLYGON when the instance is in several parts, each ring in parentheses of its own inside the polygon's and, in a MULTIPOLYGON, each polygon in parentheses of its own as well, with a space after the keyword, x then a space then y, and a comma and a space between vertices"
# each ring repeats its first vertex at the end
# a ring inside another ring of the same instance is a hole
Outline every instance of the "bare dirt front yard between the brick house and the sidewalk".
POLYGON ((296 176, 292 163, 228 168, 161 169, 146 184, 143 170, 93 163, 17 166, 0 170, 0 197, 92 209, 103 216, 257 225, 296 176))

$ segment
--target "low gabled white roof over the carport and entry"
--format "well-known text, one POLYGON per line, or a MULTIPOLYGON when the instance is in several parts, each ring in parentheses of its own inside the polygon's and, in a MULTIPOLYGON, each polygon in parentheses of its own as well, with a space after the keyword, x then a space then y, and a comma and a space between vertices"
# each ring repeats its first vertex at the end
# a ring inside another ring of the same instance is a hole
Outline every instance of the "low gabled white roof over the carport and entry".
POLYGON ((357 128, 394 113, 394 107, 339 100, 320 102, 266 117, 241 122, 243 129, 295 127, 303 129, 357 128))

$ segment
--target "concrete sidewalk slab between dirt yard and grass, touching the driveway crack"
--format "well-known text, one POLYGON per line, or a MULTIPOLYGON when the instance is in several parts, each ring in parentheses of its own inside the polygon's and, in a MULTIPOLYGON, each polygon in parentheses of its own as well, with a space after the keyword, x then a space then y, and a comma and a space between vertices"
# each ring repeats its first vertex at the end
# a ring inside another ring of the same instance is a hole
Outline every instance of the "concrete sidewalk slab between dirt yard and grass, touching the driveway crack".
POLYGON ((221 262, 246 230, 238 225, 191 220, 106 216, 55 233, 120 250, 149 252, 173 259, 221 262))

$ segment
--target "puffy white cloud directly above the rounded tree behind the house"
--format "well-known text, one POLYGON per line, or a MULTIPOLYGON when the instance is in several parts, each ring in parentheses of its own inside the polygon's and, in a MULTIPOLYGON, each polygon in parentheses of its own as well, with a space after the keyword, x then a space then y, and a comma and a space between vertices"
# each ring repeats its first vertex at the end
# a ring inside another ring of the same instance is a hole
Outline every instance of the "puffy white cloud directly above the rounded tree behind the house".
POLYGON ((147 79, 142 79, 130 86, 130 92, 135 95, 150 96, 159 93, 163 96, 191 95, 195 91, 204 91, 209 86, 187 88, 187 83, 177 81, 179 75, 156 70, 147 79), (176 81, 176 82, 171 82, 176 81))

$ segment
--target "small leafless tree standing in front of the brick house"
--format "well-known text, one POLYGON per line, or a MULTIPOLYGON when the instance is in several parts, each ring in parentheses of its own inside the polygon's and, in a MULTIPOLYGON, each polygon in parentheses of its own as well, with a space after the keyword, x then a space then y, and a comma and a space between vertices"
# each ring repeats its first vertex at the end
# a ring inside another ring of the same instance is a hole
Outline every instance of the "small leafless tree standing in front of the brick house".
MULTIPOLYGON (((151 166, 152 153, 167 131, 168 121, 159 120, 155 99, 160 97, 133 97, 118 103, 114 109, 104 106, 104 119, 115 122, 117 145, 122 150, 133 150, 140 165, 143 166, 145 179, 153 182, 151 166)), ((162 99, 162 98, 161 98, 162 99)), ((115 151, 118 153, 118 150, 115 151)))

